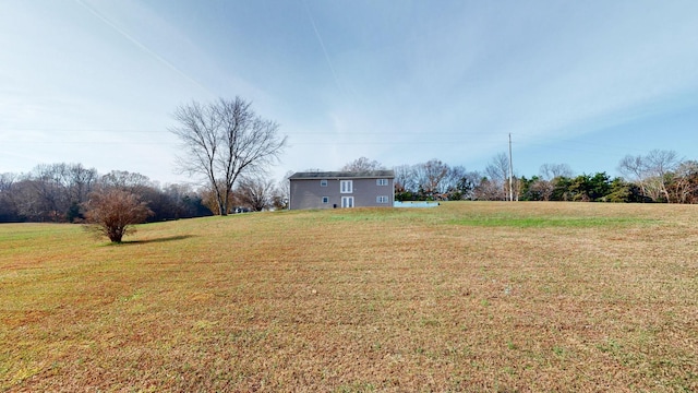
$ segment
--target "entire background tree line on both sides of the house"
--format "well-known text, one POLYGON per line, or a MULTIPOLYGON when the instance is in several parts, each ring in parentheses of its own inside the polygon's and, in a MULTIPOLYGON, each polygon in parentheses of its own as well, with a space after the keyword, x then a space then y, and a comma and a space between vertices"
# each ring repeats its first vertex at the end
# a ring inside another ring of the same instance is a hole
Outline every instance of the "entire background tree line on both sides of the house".
MULTIPOLYGON (((698 162, 679 159, 672 151, 626 156, 624 177, 606 172, 574 175, 565 164, 544 164, 532 177, 514 176, 509 192, 508 157, 492 158, 483 171, 469 171, 440 159, 399 165, 395 171, 397 201, 518 201, 698 203, 698 162)), ((385 169, 361 157, 340 170, 385 169)), ((286 207, 288 172, 281 181, 261 174, 240 176, 226 201, 227 213, 286 207)), ((97 190, 119 189, 147 203, 146 222, 219 214, 220 201, 210 187, 167 184, 148 177, 112 170, 99 175, 81 164, 44 164, 27 174, 0 174, 0 223, 75 223, 85 218, 86 203, 97 190)))

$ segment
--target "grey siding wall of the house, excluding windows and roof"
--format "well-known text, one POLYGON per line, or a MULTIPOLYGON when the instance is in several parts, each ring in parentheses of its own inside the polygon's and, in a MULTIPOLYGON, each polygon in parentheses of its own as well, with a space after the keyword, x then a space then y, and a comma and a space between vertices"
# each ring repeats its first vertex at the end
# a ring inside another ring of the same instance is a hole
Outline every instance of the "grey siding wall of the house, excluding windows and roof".
POLYGON ((395 200, 394 179, 387 178, 387 186, 378 186, 376 180, 377 178, 291 179, 290 209, 339 209, 342 196, 353 196, 354 207, 392 207, 395 200), (327 180, 327 187, 321 186, 322 180, 327 180), (351 180, 351 193, 341 192, 341 180, 351 180), (327 203, 323 203, 323 196, 327 196, 327 203), (377 196, 387 196, 387 201, 378 203, 377 196))

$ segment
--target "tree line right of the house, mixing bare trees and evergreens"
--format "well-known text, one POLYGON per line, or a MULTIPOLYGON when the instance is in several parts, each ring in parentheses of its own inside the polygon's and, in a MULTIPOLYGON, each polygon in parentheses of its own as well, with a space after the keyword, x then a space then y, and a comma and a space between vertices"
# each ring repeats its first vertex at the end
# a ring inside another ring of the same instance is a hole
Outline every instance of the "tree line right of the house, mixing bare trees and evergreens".
POLYGON ((544 164, 530 178, 512 176, 509 159, 501 153, 484 171, 468 171, 438 159, 395 169, 395 199, 470 201, 581 201, 698 203, 698 162, 673 151, 654 150, 628 155, 618 163, 624 177, 605 171, 573 175, 566 164, 544 164))

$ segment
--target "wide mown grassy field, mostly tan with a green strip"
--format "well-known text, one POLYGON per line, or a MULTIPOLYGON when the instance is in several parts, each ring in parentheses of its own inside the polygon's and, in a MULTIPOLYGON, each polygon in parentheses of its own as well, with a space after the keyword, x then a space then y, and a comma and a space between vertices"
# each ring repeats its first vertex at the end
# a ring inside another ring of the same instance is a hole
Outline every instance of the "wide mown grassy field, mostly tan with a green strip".
POLYGON ((0 225, 4 391, 698 391, 698 206, 0 225))

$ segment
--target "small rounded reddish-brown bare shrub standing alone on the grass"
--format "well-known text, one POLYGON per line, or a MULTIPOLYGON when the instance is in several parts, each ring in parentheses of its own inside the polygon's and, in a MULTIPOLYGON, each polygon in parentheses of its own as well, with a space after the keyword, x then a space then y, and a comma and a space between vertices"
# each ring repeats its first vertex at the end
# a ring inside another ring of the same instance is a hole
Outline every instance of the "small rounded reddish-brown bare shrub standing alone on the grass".
POLYGON ((136 194, 116 188, 93 192, 85 203, 89 227, 111 242, 121 242, 123 236, 135 231, 133 225, 145 222, 151 214, 136 194))

